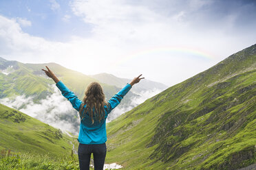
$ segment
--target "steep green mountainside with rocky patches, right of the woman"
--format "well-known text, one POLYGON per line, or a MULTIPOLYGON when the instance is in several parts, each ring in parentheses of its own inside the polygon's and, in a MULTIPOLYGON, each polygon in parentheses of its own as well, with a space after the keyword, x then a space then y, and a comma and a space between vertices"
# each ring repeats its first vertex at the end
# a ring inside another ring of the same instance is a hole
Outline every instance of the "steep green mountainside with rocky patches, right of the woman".
POLYGON ((256 45, 107 124, 125 169, 239 169, 256 162, 256 45))

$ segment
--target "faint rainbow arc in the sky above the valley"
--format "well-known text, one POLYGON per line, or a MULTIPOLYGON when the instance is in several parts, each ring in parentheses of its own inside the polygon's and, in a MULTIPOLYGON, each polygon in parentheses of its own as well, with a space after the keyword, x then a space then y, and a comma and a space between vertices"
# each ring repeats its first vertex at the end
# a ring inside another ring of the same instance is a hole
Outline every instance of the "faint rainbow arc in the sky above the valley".
POLYGON ((134 58, 141 58, 143 56, 152 57, 154 54, 167 54, 170 58, 173 56, 173 53, 179 53, 184 55, 184 57, 189 56, 195 59, 202 60, 213 60, 215 57, 213 54, 201 49, 192 49, 188 47, 151 47, 149 49, 143 49, 139 51, 134 51, 127 56, 121 56, 114 65, 122 64, 134 58))

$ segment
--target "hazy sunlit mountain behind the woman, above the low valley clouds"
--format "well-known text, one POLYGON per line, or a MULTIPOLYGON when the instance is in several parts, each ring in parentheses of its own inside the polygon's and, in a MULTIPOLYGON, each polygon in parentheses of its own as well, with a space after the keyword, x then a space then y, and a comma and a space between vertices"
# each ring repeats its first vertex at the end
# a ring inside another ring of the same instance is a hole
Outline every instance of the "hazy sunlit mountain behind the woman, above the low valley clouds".
MULTIPOLYGON (((66 69, 56 63, 23 64, 0 58, 0 98, 12 97, 13 95, 26 95, 27 97, 34 95, 34 99, 39 100, 53 93, 53 90, 49 88, 49 84, 54 84, 54 82, 47 78, 45 73, 41 71, 41 69, 45 69, 45 65, 49 66, 57 77, 81 99, 83 99, 84 91, 89 83, 98 82, 98 80, 92 77, 66 69)), ((116 86, 110 86, 104 83, 100 84, 103 86, 108 99, 120 90, 116 86)), ((127 98, 132 95, 131 93, 127 98)))

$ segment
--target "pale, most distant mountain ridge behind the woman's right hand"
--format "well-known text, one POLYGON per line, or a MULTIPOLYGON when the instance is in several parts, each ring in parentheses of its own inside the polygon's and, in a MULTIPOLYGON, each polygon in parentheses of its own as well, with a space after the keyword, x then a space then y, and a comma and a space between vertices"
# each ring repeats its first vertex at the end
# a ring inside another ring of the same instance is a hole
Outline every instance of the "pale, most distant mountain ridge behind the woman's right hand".
MULTIPOLYGON (((125 84, 127 84, 127 82, 131 82, 130 79, 116 77, 114 75, 107 74, 107 73, 91 75, 91 77, 98 80, 99 82, 109 84, 112 86, 117 86, 119 88, 122 88, 123 86, 125 86, 125 84)), ((141 81, 139 84, 136 84, 136 86, 134 86, 131 89, 131 91, 134 93, 140 93, 141 91, 155 90, 155 89, 165 90, 166 88, 167 88, 167 86, 162 83, 153 82, 151 80, 145 79, 145 80, 141 81)))

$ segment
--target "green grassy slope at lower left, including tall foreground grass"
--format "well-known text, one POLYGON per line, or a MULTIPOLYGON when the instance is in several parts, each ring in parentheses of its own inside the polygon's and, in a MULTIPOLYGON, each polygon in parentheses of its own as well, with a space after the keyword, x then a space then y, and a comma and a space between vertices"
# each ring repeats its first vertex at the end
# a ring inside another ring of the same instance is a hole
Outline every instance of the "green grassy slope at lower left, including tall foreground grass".
POLYGON ((79 169, 76 139, 0 104, 0 169, 79 169))

